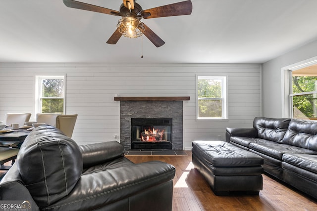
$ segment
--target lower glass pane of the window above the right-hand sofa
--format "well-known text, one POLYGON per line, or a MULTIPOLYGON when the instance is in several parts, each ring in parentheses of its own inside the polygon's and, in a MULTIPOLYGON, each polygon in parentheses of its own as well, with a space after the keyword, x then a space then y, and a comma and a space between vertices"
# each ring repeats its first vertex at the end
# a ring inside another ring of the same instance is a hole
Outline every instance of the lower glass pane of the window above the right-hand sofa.
POLYGON ((294 118, 317 117, 317 94, 293 96, 294 118))

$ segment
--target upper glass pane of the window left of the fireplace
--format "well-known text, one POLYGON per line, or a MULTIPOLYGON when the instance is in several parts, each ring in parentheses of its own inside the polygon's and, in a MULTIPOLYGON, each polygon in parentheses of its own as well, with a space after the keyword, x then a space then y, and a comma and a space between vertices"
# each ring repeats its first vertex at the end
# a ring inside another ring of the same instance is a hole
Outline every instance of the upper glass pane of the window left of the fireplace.
POLYGON ((63 79, 43 79, 42 97, 63 97, 64 96, 63 79))

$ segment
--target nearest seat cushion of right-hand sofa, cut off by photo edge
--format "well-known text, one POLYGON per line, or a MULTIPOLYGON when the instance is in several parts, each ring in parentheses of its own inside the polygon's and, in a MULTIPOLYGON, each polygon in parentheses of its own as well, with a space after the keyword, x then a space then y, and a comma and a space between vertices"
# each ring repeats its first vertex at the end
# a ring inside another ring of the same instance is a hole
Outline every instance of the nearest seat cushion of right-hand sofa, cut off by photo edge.
POLYGON ((282 157, 283 161, 292 164, 301 169, 306 169, 313 173, 317 173, 317 154, 306 155, 306 154, 295 154, 286 153, 282 157))

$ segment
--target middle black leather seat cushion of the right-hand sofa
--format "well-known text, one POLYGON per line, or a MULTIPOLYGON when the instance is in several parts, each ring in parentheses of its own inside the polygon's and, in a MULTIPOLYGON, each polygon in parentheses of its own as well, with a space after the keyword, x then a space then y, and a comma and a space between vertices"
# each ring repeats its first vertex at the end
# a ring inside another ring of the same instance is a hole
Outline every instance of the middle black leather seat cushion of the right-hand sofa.
POLYGON ((316 151, 296 147, 288 144, 271 143, 250 143, 250 149, 260 152, 264 155, 282 160, 285 153, 301 153, 301 154, 316 154, 316 151))

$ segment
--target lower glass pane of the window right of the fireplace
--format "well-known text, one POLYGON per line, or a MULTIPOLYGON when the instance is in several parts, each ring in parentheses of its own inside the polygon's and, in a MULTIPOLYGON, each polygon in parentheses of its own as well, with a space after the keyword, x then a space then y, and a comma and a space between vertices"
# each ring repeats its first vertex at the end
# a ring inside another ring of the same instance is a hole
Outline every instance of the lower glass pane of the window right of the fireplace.
POLYGON ((221 118, 222 100, 221 99, 199 99, 199 117, 221 118))

